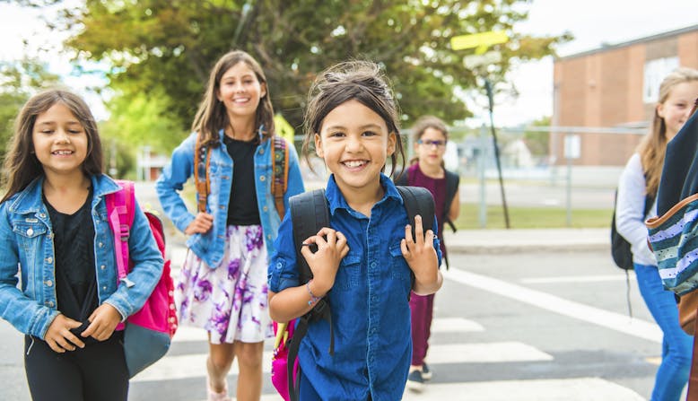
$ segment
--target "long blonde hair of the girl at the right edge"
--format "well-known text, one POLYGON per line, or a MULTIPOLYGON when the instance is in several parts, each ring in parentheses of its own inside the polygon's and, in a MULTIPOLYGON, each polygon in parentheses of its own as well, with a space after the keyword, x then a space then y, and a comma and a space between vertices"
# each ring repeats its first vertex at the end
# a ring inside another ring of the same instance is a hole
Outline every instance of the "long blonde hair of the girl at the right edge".
MULTIPOLYGON (((680 83, 698 81, 698 70, 693 68, 677 68, 659 84, 659 100, 657 105, 667 101, 669 93, 680 83)), ((664 166, 664 155, 667 152, 667 124, 659 117, 657 107, 654 108, 651 131, 642 138, 637 152, 640 153, 642 169, 645 173, 645 190, 650 195, 657 195, 661 170, 664 166)))

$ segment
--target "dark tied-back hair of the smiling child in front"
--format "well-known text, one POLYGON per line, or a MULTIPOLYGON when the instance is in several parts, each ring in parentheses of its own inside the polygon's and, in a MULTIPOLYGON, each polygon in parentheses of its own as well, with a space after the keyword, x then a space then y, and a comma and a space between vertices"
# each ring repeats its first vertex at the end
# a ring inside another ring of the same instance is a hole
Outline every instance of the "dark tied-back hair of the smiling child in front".
POLYGON ((346 101, 357 100, 383 118, 389 133, 395 133, 396 152, 390 155, 390 175, 396 170, 398 155, 402 161, 400 170, 404 170, 405 152, 400 139, 397 102, 379 65, 371 61, 345 61, 333 65, 318 75, 310 86, 308 98, 302 153, 309 166, 312 166, 310 146, 314 144, 315 134, 319 134, 327 114, 346 101))

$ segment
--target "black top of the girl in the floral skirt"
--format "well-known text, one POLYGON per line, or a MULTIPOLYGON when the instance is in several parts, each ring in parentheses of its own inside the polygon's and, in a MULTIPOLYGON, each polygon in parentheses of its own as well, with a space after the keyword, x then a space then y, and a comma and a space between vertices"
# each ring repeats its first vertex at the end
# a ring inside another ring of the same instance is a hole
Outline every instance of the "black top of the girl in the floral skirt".
POLYGON ((255 151, 257 141, 239 141, 223 136, 232 159, 231 199, 228 204, 228 225, 259 224, 257 191, 255 189, 255 151))

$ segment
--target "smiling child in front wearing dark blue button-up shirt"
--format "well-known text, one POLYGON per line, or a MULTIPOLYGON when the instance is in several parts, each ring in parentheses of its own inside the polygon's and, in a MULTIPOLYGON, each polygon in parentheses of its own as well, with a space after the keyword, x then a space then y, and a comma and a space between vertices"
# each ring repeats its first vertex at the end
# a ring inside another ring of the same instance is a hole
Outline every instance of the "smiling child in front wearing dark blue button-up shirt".
POLYGON ((330 227, 303 242, 318 251, 302 247, 314 278, 299 285, 286 214, 268 273, 276 321, 300 317, 323 297, 332 310, 334 355, 327 353, 325 320, 310 323, 301 341, 303 401, 400 399, 412 354, 410 290, 426 295, 441 287, 439 241, 423 231, 420 216, 407 221, 397 188, 382 173, 388 156, 393 166, 396 152, 404 156, 397 116, 388 84, 370 62, 331 67, 311 88, 303 148, 308 156, 314 143, 332 173, 325 191, 330 227))

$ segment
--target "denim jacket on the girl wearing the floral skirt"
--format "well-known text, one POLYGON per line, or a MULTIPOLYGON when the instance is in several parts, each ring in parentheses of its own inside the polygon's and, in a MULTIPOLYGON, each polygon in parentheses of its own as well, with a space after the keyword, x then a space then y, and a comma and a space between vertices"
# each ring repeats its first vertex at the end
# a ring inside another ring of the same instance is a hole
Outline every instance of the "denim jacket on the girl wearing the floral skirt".
MULTIPOLYGON (((225 229, 228 219, 228 203, 232 187, 232 159, 223 144, 223 130, 219 131, 220 146, 210 149, 211 161, 208 171, 211 193, 206 201, 206 210, 214 215, 214 227, 205 234, 193 234, 187 240, 187 246, 197 257, 201 257, 206 265, 215 268, 221 264, 225 229)), ((262 135, 261 127, 259 135, 262 135)), ((257 191, 257 208, 262 230, 265 234, 265 244, 268 254, 274 249, 276 231, 281 219, 276 212, 274 196, 271 192, 274 163, 271 160, 269 140, 262 141, 255 150, 255 190, 257 191)), ((160 203, 165 214, 175 224, 179 231, 184 232, 195 215, 189 213, 179 191, 189 177, 194 175, 194 148, 196 133, 192 133, 172 153, 170 165, 162 170, 155 187, 160 197, 160 203)), ((284 206, 288 209, 288 198, 300 194, 305 189, 298 166, 298 156, 295 148, 289 145, 288 183, 284 195, 284 206)), ((198 194, 197 194, 198 196, 198 194)))

